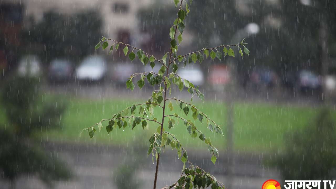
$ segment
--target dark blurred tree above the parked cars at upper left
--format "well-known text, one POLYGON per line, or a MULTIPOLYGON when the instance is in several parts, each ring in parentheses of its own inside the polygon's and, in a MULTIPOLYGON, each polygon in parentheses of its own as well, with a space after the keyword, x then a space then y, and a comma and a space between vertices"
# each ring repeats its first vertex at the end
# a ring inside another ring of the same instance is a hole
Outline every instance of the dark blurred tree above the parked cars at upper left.
POLYGON ((43 21, 35 23, 32 20, 31 27, 23 32, 23 41, 27 43, 27 51, 38 53, 42 62, 47 63, 45 66, 56 58, 78 63, 84 56, 94 53, 89 47, 102 35, 101 25, 100 15, 93 10, 72 15, 48 11, 43 21))

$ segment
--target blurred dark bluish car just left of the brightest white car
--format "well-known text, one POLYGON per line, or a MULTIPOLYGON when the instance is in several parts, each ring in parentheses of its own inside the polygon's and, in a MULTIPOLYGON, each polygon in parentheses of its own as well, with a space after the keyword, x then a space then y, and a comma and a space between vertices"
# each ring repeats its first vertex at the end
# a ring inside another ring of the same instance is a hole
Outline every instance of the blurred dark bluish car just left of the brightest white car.
POLYGON ((64 59, 53 60, 49 66, 49 81, 67 81, 71 79, 74 71, 73 64, 64 59))

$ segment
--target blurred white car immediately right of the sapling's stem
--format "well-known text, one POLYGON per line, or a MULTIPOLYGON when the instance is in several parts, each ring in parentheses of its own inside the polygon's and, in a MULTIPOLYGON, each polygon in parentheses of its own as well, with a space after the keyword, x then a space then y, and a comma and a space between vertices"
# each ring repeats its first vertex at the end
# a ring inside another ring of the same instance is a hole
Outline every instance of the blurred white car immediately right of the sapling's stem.
POLYGON ((177 70, 177 74, 190 82, 195 86, 202 85, 204 82, 204 75, 199 65, 188 64, 184 68, 181 67, 177 70))

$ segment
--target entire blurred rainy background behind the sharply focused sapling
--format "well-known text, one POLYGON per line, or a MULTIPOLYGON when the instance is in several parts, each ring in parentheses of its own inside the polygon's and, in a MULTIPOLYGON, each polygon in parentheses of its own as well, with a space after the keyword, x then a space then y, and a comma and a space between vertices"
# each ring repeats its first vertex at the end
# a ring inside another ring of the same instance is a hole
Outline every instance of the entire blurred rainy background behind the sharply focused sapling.
MULTIPOLYGON (((126 78, 150 66, 130 62, 123 47, 94 50, 99 38, 161 57, 173 1, 0 0, 0 9, 0 188, 151 188, 154 125, 92 140, 79 133, 153 91, 126 90, 126 78)), ((179 54, 244 38, 250 50, 178 70, 205 94, 193 103, 223 124, 224 137, 199 126, 220 151, 216 166, 183 124, 171 129, 192 162, 226 188, 335 178, 336 2, 194 0, 190 9, 179 54)), ((176 88, 172 96, 190 100, 176 88)), ((164 150, 160 188, 180 175, 175 154, 164 150)))

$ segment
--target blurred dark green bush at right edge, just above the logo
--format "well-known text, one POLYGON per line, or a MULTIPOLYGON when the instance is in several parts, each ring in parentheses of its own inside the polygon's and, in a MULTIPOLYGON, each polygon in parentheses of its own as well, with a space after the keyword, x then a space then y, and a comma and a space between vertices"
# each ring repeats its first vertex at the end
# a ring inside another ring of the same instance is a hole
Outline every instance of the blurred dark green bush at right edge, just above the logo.
POLYGON ((286 138, 285 150, 274 164, 284 180, 328 180, 336 167, 335 120, 322 109, 315 124, 286 138))

